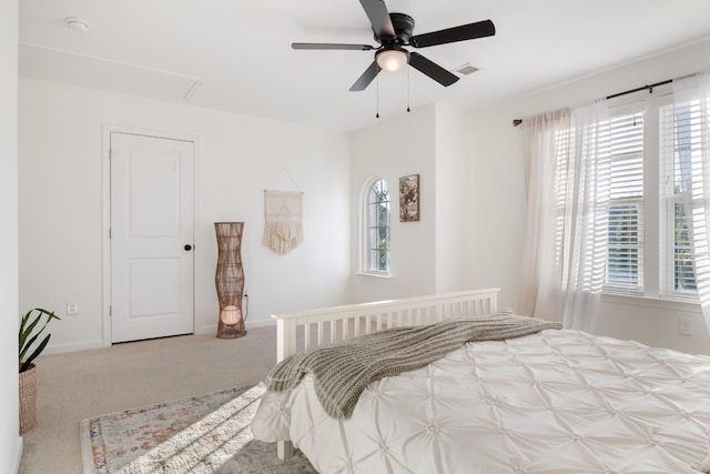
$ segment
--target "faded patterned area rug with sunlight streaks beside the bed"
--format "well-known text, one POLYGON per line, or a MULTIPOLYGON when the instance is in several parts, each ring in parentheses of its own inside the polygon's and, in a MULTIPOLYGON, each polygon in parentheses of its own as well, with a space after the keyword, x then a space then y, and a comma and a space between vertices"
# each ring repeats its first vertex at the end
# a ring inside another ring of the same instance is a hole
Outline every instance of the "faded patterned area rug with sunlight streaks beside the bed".
POLYGON ((261 383, 84 420, 84 473, 316 473, 300 451, 282 462, 276 443, 253 440, 248 423, 264 390, 261 383))

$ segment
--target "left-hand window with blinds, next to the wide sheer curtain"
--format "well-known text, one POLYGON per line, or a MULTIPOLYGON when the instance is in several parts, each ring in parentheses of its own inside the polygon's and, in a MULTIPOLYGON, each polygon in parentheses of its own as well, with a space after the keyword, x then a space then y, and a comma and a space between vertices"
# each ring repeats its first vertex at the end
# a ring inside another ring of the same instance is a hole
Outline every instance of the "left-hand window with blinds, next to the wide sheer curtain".
POLYGON ((611 163, 607 291, 643 290, 643 114, 613 115, 609 123, 611 163))

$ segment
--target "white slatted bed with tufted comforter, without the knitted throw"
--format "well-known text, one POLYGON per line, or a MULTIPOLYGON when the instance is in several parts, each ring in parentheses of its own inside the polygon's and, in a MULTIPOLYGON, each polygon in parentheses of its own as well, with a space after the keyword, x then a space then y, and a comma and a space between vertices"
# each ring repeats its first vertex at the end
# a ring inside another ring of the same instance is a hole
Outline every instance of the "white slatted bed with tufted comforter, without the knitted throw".
MULTIPOLYGON (((276 315, 277 357, 501 313, 485 289, 276 315)), ((348 416, 326 411, 316 385, 306 373, 267 391, 251 430, 321 473, 710 472, 708 356, 544 329, 373 381, 348 416)))

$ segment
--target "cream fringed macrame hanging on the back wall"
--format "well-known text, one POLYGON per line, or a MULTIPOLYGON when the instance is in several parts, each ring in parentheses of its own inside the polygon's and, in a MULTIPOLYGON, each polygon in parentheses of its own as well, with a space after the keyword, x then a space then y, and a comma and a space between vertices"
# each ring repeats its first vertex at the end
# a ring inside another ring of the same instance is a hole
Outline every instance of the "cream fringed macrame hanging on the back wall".
POLYGON ((264 190, 264 245, 280 254, 294 250, 303 243, 303 191, 264 190))

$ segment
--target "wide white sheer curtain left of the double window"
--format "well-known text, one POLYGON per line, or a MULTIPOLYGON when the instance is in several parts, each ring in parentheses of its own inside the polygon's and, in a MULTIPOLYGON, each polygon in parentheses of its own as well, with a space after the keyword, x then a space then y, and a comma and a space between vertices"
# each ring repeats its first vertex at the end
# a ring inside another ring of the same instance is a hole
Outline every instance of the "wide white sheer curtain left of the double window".
POLYGON ((528 214, 520 312, 592 332, 607 252, 607 102, 524 123, 528 214))

